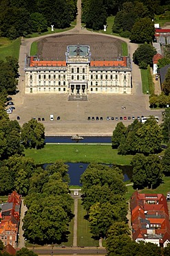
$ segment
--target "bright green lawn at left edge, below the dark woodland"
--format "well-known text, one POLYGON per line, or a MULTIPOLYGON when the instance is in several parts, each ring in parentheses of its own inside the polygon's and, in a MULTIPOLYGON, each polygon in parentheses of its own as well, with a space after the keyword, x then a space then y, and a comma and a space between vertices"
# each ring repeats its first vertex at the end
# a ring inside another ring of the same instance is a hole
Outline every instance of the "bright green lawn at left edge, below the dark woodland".
POLYGON ((10 41, 9 39, 0 38, 0 60, 6 60, 6 56, 13 56, 19 60, 19 48, 21 37, 10 41))

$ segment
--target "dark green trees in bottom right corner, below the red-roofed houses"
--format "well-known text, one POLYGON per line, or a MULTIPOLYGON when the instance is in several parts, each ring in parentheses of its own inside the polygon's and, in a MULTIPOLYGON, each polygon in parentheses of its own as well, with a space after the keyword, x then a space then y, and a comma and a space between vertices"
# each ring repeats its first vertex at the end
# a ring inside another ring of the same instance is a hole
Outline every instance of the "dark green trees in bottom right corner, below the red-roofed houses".
POLYGON ((129 237, 125 222, 115 222, 107 232, 106 249, 108 256, 169 256, 170 246, 160 248, 153 243, 136 243, 129 237))

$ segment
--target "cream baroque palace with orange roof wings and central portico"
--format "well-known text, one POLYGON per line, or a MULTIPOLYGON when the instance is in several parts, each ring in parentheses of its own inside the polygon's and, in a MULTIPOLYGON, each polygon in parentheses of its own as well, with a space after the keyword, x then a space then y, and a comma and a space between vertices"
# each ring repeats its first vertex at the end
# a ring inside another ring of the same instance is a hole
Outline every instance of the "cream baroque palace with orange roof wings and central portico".
POLYGON ((129 57, 92 61, 89 46, 67 46, 65 61, 25 60, 25 93, 67 93, 87 98, 90 93, 131 93, 129 57))

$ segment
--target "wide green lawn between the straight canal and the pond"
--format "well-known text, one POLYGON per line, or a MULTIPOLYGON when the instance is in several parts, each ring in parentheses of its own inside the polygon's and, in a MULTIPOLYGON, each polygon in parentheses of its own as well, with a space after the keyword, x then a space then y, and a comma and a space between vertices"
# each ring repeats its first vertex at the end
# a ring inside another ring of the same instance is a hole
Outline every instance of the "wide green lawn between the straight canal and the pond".
POLYGON ((72 163, 114 163, 129 165, 133 156, 120 156, 111 145, 45 145, 43 149, 25 149, 25 156, 36 164, 54 163, 57 160, 72 163))

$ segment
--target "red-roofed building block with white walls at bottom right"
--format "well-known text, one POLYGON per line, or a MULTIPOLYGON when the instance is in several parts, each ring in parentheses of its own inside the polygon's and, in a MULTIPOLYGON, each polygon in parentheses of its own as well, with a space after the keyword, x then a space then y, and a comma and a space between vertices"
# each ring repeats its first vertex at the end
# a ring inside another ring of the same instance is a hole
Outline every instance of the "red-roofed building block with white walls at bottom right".
POLYGON ((170 243, 170 223, 165 196, 134 192, 130 206, 133 240, 167 246, 170 243))

